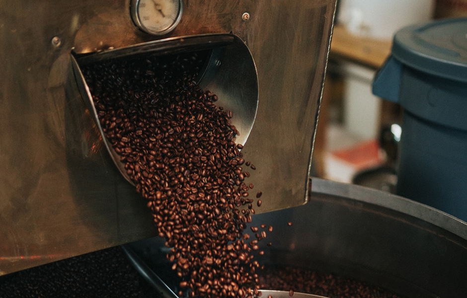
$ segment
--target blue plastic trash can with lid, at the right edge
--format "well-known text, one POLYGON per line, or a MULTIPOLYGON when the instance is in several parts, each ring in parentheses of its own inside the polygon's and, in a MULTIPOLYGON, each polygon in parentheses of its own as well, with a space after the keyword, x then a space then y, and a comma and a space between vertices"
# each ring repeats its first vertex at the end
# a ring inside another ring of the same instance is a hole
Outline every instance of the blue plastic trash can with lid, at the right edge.
POLYGON ((373 93, 404 108, 397 194, 467 221, 467 18, 398 31, 373 93))

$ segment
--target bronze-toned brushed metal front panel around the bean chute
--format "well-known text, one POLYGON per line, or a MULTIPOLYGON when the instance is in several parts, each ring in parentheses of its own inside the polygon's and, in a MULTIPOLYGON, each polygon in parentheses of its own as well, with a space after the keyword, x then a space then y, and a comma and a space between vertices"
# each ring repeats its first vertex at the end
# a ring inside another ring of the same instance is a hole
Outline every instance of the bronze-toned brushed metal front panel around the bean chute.
POLYGON ((258 168, 262 212, 307 199, 335 0, 185 0, 163 37, 141 32, 129 5, 0 0, 0 275, 155 234, 80 96, 72 50, 232 32, 257 66, 259 105, 242 152, 258 168))

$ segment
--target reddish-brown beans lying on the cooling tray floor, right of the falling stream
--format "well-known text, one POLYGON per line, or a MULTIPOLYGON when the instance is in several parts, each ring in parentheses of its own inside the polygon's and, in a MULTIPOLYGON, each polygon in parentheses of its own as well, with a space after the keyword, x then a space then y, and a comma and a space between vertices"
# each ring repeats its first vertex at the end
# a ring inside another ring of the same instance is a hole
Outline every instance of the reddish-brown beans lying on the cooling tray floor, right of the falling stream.
POLYGON ((307 293, 329 298, 401 298, 380 287, 308 269, 269 267, 259 274, 262 289, 307 293))

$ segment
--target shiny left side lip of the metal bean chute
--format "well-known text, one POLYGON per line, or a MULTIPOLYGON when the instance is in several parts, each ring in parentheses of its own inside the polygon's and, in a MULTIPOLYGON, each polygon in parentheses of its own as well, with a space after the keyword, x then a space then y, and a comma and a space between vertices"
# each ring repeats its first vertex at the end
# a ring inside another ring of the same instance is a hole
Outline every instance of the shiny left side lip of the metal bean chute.
POLYGON ((71 60, 72 60, 72 66, 73 66, 73 73, 75 74, 75 80, 78 84, 79 93, 81 93, 81 97, 86 103, 86 106, 89 109, 91 117, 94 119, 96 126, 99 129, 105 148, 107 148, 107 151, 112 157, 112 160, 114 161, 115 166, 118 168, 118 170, 123 175, 123 177, 125 177, 125 179, 128 182, 130 182, 130 184, 135 186, 133 181, 131 181, 130 177, 128 177, 124 164, 120 161, 120 155, 118 155, 118 153, 113 149, 113 147, 110 146, 109 142, 105 138, 104 131, 102 130, 102 126, 100 125, 99 119, 97 117, 97 110, 96 110, 96 107, 94 106, 94 101, 92 100, 91 91, 89 90, 89 86, 87 85, 86 80, 84 79, 84 75, 82 74, 81 69, 79 68, 79 65, 78 65, 78 61, 76 60, 74 55, 71 55, 71 60))

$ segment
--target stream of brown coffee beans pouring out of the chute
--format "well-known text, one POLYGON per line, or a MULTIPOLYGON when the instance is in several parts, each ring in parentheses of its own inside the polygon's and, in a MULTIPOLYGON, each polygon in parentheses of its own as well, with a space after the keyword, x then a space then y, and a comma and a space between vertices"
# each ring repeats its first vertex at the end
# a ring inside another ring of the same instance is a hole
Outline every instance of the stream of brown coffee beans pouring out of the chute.
POLYGON ((245 182, 255 167, 234 142, 232 112, 194 81, 201 56, 108 61, 83 74, 107 140, 171 248, 180 287, 201 297, 253 297, 260 267, 253 253, 263 253, 257 243, 271 228, 251 227, 251 239, 244 233, 262 193, 250 194, 245 182))

